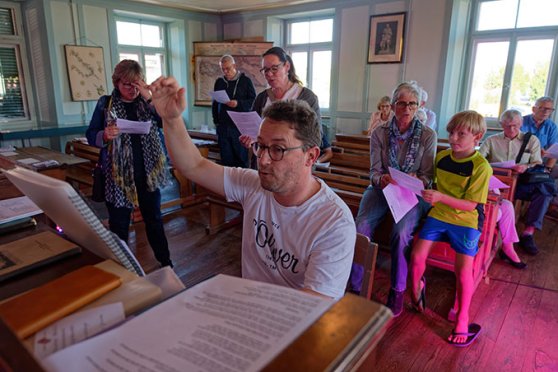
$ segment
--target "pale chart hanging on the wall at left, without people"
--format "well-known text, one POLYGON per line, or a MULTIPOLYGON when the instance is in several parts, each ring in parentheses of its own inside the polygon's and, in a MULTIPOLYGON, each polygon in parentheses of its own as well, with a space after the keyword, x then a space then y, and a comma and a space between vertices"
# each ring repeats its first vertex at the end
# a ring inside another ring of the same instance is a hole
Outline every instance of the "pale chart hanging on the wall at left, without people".
POLYGON ((64 45, 72 101, 93 101, 107 94, 102 47, 64 45))

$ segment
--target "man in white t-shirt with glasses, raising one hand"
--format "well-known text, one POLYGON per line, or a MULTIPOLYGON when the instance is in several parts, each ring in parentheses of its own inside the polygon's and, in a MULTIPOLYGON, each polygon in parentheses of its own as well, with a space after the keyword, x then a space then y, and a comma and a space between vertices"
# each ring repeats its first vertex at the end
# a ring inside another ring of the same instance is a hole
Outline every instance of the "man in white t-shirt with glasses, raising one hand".
POLYGON ((242 276, 329 297, 343 296, 356 229, 349 208, 312 175, 320 155, 315 113, 302 101, 263 112, 253 150, 258 170, 203 158, 182 121, 184 88, 172 77, 151 84, 173 165, 188 179, 242 204, 242 276))

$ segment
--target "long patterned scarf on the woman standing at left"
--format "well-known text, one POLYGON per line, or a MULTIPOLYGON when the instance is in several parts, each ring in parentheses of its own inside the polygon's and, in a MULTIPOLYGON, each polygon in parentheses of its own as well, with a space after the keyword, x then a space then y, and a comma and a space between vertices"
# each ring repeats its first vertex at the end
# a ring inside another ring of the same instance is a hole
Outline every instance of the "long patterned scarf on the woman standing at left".
MULTIPOLYGON (((151 121, 151 129, 148 134, 141 135, 141 146, 143 151, 143 163, 145 167, 147 190, 152 192, 164 186, 168 180, 166 169, 166 157, 163 152, 161 139, 156 123, 153 122, 149 104, 139 97, 138 121, 151 121)), ((126 109, 122 102, 120 92, 115 89, 112 92, 112 111, 117 118, 126 119, 126 109)), ((116 207, 128 207, 138 205, 137 189, 134 183, 134 161, 132 156, 132 139, 129 134, 121 133, 111 141, 108 148, 109 161, 112 163, 112 180, 110 182, 107 201, 116 207), (112 186, 112 187, 111 187, 112 186)), ((109 167, 111 169, 111 167, 109 167)))

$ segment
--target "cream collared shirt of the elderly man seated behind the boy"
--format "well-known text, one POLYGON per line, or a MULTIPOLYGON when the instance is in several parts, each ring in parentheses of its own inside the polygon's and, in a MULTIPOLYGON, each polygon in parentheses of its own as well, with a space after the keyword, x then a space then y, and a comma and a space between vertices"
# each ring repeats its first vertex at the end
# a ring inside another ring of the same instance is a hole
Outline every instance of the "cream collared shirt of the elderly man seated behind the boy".
MULTIPOLYGON (((479 152, 490 163, 513 160, 519 154, 525 133, 519 132, 517 137, 510 139, 504 135, 504 132, 494 134, 485 139, 479 149, 479 152)), ((529 138, 525 151, 521 157, 519 164, 540 164, 541 144, 535 135, 529 138)))

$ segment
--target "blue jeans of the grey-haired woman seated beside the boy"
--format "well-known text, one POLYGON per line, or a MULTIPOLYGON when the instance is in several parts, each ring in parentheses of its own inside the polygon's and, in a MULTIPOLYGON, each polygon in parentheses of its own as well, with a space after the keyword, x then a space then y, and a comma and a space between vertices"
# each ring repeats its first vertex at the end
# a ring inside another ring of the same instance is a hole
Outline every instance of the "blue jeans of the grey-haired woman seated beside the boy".
MULTIPOLYGON (((407 288, 407 260, 410 245, 421 218, 430 210, 430 204, 421 197, 418 199, 419 203, 394 224, 391 231, 391 288, 396 291, 404 291, 407 288)), ((368 186, 358 208, 357 232, 368 236, 371 241, 374 240, 376 228, 388 213, 391 212, 382 189, 368 186)), ((351 276, 356 276, 353 273, 357 274, 357 272, 358 269, 352 270, 351 276)), ((352 281, 352 285, 354 284, 357 283, 352 281)))

